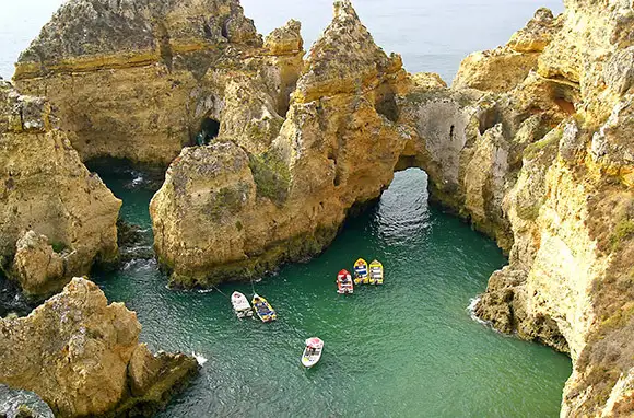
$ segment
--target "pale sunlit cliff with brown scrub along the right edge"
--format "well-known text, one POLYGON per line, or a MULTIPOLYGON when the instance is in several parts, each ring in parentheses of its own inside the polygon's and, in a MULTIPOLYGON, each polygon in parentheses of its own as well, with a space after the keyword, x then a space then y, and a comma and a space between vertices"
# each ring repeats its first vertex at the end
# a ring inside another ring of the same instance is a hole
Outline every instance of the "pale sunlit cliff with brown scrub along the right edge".
POLYGON ((529 141, 507 184, 509 266, 492 276, 477 313, 503 332, 571 353, 562 416, 626 416, 634 411, 634 10, 618 1, 565 5, 524 79, 504 89, 478 84, 472 74, 491 68, 470 60, 457 78, 503 90, 507 109, 517 117, 529 111, 541 117, 540 130, 550 130, 529 141))

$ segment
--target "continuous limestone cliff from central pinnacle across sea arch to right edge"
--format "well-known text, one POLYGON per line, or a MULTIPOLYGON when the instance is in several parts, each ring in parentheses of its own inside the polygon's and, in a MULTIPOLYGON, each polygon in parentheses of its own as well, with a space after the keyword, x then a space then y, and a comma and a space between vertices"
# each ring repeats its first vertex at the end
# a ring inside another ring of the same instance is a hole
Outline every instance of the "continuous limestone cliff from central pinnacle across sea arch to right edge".
POLYGON ((562 415, 631 411, 632 13, 540 9, 448 89, 407 76, 336 2, 277 138, 174 162, 152 204, 162 262, 186 286, 259 275, 322 248, 395 170, 420 166, 432 199, 509 252, 478 314, 571 353, 562 415))

